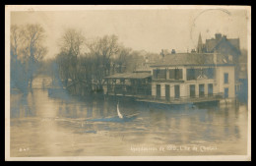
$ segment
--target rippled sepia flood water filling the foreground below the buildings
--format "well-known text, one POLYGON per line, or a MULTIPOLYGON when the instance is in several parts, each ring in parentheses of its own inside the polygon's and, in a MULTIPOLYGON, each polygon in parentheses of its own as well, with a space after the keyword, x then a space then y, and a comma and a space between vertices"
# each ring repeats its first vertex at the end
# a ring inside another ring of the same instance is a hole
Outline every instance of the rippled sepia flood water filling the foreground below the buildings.
POLYGON ((11 157, 240 155, 247 151, 245 104, 171 108, 48 96, 41 79, 11 94, 11 157))

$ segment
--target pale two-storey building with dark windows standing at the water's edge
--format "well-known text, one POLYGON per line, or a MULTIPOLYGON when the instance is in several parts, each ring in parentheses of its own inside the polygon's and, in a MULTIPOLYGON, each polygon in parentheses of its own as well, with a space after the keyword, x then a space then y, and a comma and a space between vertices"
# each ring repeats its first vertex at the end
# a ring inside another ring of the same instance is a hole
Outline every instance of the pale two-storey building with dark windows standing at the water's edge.
POLYGON ((152 65, 152 95, 166 101, 234 98, 234 65, 222 54, 166 55, 152 65))

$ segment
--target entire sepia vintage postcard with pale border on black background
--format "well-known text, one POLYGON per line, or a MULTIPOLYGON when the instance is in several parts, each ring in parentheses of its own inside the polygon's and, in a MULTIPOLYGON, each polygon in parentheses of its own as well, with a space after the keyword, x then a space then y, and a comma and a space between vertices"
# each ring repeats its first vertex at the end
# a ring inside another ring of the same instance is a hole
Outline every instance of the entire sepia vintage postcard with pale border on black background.
POLYGON ((250 6, 5 10, 6 160, 251 160, 250 6))

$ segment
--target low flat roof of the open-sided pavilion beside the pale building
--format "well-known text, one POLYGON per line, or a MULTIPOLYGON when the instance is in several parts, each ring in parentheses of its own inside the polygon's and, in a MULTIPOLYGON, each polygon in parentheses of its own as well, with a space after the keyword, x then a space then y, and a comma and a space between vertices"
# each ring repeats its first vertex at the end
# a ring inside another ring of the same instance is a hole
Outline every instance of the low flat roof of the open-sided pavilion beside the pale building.
POLYGON ((105 79, 147 79, 150 78, 152 75, 150 73, 124 73, 124 74, 115 74, 105 79))

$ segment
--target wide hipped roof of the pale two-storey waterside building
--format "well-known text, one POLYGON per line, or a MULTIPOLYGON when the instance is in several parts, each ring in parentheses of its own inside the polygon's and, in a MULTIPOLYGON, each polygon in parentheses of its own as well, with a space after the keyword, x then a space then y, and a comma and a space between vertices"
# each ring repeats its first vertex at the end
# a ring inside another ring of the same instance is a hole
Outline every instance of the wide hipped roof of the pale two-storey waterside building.
POLYGON ((157 66, 209 66, 209 65, 233 65, 222 54, 217 55, 217 63, 214 63, 214 53, 176 53, 168 54, 159 62, 151 65, 157 66))

